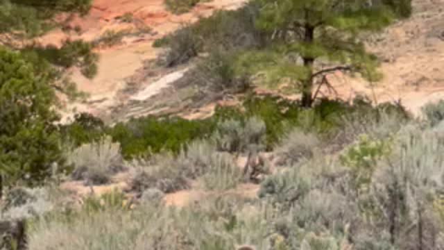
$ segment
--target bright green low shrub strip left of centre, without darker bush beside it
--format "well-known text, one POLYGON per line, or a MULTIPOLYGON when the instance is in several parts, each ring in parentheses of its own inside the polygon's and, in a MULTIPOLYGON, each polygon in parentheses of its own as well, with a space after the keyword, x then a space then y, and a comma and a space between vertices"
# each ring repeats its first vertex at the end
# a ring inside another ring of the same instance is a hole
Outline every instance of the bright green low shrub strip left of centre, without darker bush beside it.
POLYGON ((129 158, 162 150, 177 153, 186 142, 210 135, 213 129, 211 120, 143 117, 116 124, 107 133, 120 142, 123 156, 129 158))

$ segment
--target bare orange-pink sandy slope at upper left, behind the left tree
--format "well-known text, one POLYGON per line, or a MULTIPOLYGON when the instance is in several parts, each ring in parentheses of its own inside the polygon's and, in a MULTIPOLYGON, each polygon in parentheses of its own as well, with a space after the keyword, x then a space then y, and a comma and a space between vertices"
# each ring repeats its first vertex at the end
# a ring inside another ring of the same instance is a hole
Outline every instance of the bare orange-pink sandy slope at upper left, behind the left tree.
POLYGON ((71 28, 80 28, 80 33, 51 31, 40 38, 40 42, 60 45, 67 38, 92 41, 100 38, 105 31, 137 28, 141 25, 150 27, 151 32, 137 38, 124 38, 117 46, 98 49, 99 72, 93 79, 85 78, 77 69, 71 69, 71 79, 77 84, 78 90, 89 94, 89 99, 86 103, 67 105, 63 112, 65 119, 73 112, 86 111, 100 115, 110 107, 119 105, 117 94, 126 87, 127 78, 142 68, 144 61, 156 58, 161 51, 152 47, 154 40, 180 26, 196 22, 200 17, 211 15, 214 10, 239 8, 244 1, 214 0, 200 3, 185 14, 173 15, 166 10, 163 0, 94 0, 88 15, 74 17, 69 22, 71 28), (119 20, 126 13, 132 13, 133 23, 127 24, 119 20))

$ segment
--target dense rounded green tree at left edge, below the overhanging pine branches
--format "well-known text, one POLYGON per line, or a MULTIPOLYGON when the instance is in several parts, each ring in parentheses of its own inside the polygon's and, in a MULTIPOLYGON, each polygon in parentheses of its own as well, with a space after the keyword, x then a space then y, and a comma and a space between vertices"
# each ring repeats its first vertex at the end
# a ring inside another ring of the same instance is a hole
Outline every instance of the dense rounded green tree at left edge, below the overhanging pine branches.
POLYGON ((0 48, 0 171, 7 185, 38 183, 60 162, 54 99, 46 74, 0 48))

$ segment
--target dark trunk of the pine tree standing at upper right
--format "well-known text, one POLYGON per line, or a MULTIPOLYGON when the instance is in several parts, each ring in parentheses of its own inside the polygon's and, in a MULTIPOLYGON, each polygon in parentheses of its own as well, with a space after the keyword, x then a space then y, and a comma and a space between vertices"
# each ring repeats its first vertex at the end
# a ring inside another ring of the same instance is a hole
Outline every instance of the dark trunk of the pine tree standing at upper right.
MULTIPOLYGON (((305 26, 304 42, 309 44, 313 42, 313 40, 314 40, 314 27, 307 24, 305 26)), ((303 57, 302 60, 304 61, 304 67, 309 69, 310 74, 305 80, 305 82, 302 84, 301 105, 302 107, 310 108, 311 104, 313 104, 313 96, 311 93, 313 89, 313 78, 311 78, 311 75, 313 74, 314 58, 303 57)))

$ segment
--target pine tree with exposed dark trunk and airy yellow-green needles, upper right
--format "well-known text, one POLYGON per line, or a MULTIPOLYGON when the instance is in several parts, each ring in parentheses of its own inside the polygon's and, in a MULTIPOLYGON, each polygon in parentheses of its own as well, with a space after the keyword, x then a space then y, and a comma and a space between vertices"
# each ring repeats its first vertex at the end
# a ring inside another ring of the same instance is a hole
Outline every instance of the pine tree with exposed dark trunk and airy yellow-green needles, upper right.
MULTIPOLYGON (((266 69, 300 84, 302 106, 311 106, 318 92, 314 85, 328 84, 325 76, 329 73, 380 76, 377 58, 366 51, 361 37, 364 32, 379 31, 393 22, 398 10, 385 3, 397 0, 258 1, 262 8, 256 24, 273 33, 273 46, 266 51, 250 51, 239 61, 243 66, 246 60, 253 61, 253 71, 266 69)), ((400 1, 410 5, 409 0, 400 1)))

